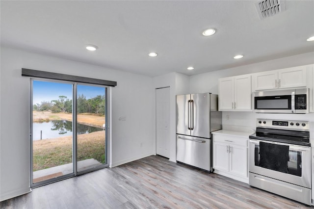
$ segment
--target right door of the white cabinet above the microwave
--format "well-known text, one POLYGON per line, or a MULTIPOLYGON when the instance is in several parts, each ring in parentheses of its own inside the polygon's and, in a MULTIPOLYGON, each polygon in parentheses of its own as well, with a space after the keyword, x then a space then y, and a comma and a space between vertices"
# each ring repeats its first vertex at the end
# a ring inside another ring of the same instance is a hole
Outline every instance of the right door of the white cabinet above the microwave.
POLYGON ((306 86, 306 66, 278 70, 279 88, 306 86))

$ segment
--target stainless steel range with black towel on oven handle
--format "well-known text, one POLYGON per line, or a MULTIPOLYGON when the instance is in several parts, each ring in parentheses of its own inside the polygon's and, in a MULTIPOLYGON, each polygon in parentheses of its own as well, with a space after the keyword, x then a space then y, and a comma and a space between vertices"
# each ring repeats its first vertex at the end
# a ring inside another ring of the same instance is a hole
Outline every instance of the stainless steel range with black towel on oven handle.
POLYGON ((249 136, 249 184, 311 205, 309 122, 257 119, 256 127, 249 136))

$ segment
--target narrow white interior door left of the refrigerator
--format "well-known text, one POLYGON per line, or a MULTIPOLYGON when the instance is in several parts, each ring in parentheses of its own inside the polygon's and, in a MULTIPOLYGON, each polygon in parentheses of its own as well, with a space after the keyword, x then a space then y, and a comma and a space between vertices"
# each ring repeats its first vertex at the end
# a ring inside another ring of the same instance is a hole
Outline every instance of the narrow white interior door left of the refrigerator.
POLYGON ((156 153, 169 158, 170 88, 156 89, 156 153))

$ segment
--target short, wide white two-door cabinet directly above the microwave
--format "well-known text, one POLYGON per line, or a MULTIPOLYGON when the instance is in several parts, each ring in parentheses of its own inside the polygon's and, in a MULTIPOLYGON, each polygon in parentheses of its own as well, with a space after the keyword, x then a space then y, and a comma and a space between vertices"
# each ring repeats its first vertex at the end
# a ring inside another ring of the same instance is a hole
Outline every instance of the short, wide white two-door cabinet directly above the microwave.
POLYGON ((285 68, 253 74, 253 90, 307 86, 306 66, 285 68))

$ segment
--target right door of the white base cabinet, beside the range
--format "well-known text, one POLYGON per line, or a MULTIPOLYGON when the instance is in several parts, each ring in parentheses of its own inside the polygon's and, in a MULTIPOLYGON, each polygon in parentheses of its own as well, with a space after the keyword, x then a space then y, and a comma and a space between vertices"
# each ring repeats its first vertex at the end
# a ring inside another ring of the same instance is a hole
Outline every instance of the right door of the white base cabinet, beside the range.
POLYGON ((229 172, 247 177, 247 147, 230 145, 229 172))

